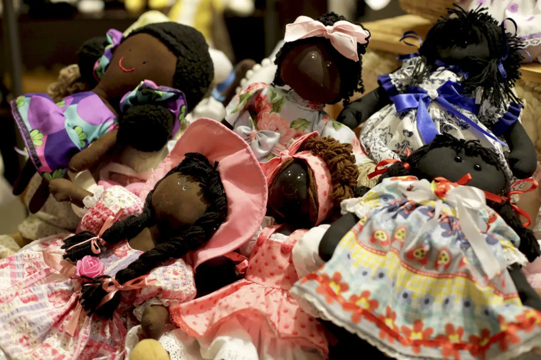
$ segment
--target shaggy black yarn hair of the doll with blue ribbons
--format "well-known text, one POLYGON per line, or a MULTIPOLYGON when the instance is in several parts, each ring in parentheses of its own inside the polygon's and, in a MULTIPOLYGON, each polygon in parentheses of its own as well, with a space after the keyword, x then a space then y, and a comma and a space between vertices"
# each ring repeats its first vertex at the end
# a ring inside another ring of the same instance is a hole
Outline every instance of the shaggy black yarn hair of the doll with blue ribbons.
POLYGON ((434 63, 442 44, 456 44, 457 40, 464 39, 477 42, 479 31, 489 44, 490 58, 466 57, 460 66, 469 72, 469 78, 460 81, 460 84, 467 93, 482 87, 484 92, 481 99, 489 100, 493 106, 502 106, 506 99, 520 103, 512 89, 520 78, 520 61, 523 57, 519 50, 524 44, 516 35, 506 32, 487 10, 479 6, 476 10, 466 11, 457 4, 454 4, 454 8, 447 8, 447 16, 438 19, 432 26, 419 49, 424 61, 414 70, 414 82, 420 83, 431 71, 430 66, 426 65, 434 63), (508 56, 502 60, 507 74, 504 79, 498 70, 498 61, 504 57, 506 51, 508 56))

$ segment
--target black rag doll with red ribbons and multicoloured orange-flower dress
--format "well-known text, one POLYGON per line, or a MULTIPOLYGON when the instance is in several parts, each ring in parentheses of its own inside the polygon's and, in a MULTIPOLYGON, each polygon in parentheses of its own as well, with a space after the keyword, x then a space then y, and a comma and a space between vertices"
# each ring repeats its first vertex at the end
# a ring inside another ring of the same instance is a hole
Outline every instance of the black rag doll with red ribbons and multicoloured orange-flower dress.
POLYGON ((319 244, 327 262, 292 292, 395 358, 511 359, 538 347, 541 298, 519 249, 539 248, 486 205, 508 181, 491 149, 437 135, 342 202, 319 244))

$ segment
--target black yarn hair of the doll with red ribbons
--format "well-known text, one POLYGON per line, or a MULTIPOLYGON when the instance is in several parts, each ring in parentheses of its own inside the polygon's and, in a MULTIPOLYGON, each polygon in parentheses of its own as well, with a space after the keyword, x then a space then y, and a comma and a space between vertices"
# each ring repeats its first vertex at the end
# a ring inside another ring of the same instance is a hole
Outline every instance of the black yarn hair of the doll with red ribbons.
MULTIPOLYGON (((496 166, 498 169, 500 169, 500 171, 502 171, 502 173, 505 174, 502 164, 500 164, 500 162, 498 161, 498 156, 496 152, 492 151, 490 148, 481 146, 479 144, 479 140, 459 140, 457 138, 454 138, 452 135, 445 133, 436 135, 434 140, 432 140, 432 142, 430 142, 429 144, 421 146, 408 156, 401 157, 402 162, 395 162, 393 165, 387 168, 387 171, 385 173, 380 175, 380 178, 378 179, 378 184, 386 178, 407 175, 416 176, 418 179, 433 180, 428 179, 426 174, 421 173, 417 165, 429 151, 440 147, 453 148, 457 151, 457 154, 460 150, 464 150, 466 156, 469 157, 479 156, 487 164, 496 166), (404 166, 404 163, 406 162, 409 167, 404 166)), ((507 176, 506 174, 505 181, 506 189, 503 191, 502 194, 497 195, 506 195, 507 192, 509 192, 511 179, 509 179, 509 176, 507 176)), ((519 216, 514 212, 513 208, 511 207, 511 203, 507 200, 504 200, 502 202, 487 200, 487 205, 494 209, 494 211, 496 211, 500 216, 502 216, 502 219, 507 223, 507 225, 509 225, 520 237, 520 244, 518 249, 526 256, 528 261, 531 262, 537 259, 537 257, 541 255, 541 248, 539 247, 536 236, 530 229, 525 228, 522 225, 519 216)))

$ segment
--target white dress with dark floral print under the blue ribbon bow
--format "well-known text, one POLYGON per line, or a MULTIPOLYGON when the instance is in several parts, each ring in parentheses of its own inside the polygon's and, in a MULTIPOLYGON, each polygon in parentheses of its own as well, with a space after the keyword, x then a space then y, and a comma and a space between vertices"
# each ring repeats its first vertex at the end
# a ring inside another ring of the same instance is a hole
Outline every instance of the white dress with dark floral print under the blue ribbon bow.
MULTIPOLYGON (((381 86, 385 88, 390 97, 407 93, 413 70, 419 61, 420 57, 410 58, 404 62, 399 70, 379 78, 381 86)), ((461 79, 463 79, 463 76, 445 69, 445 67, 439 67, 436 71, 430 73, 422 84, 416 86, 426 91, 436 91, 446 81, 451 80, 458 83, 461 79)), ((456 109, 490 134, 492 134, 492 126, 498 123, 500 119, 502 119, 502 122, 505 120, 505 123, 512 123, 517 121, 520 114, 520 109, 512 103, 506 103, 505 107, 496 108, 485 102, 481 104, 478 114, 459 107, 456 107, 456 109)), ((481 145, 493 148, 496 151, 507 174, 512 176, 504 157, 504 149, 496 140, 487 138, 477 132, 470 124, 446 111, 437 101, 432 101, 427 110, 439 133, 448 133, 457 139, 479 139, 481 145)), ((366 120, 362 127, 360 140, 368 156, 376 163, 397 158, 395 153, 404 155, 408 154, 408 150, 417 150, 425 145, 417 128, 417 108, 398 113, 394 104, 384 106, 366 120)), ((503 141, 505 142, 505 140, 503 141)), ((505 147, 505 151, 509 151, 509 149, 505 147)))

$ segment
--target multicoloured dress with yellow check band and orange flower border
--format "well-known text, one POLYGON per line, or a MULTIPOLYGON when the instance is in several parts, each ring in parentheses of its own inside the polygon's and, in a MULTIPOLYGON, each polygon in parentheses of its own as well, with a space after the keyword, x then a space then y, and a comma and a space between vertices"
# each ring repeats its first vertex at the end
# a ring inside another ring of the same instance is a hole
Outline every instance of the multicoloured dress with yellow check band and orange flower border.
POLYGON ((301 306, 398 359, 511 359, 539 346, 541 313, 522 305, 505 268, 512 229, 481 211, 480 234, 503 269, 489 280, 455 210, 444 202, 437 226, 416 236, 434 201, 407 201, 394 179, 359 199, 365 216, 295 283, 301 306))

